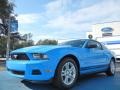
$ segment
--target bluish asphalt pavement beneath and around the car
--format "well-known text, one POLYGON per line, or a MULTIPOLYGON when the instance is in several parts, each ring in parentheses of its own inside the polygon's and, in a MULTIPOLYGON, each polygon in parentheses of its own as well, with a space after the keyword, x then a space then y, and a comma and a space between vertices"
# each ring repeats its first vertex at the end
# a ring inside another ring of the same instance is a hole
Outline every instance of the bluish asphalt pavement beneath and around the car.
MULTIPOLYGON (((57 90, 51 84, 33 83, 12 77, 6 70, 0 71, 0 90, 57 90)), ((120 90, 120 68, 115 76, 104 73, 81 77, 70 90, 120 90)))

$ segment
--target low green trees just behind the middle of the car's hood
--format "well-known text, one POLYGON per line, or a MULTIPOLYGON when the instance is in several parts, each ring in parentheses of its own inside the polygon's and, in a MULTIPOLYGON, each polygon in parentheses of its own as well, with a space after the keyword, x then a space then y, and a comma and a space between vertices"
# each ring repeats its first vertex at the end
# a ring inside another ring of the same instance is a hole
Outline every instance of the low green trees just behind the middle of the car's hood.
POLYGON ((39 40, 36 45, 57 45, 57 44, 58 41, 56 40, 45 39, 45 40, 39 40))

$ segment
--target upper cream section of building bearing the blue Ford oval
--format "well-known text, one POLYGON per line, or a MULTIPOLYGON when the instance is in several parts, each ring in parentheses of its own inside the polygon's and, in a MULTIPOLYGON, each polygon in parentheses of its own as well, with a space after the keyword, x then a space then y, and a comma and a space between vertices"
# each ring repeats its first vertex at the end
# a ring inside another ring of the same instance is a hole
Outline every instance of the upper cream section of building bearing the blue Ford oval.
POLYGON ((93 39, 120 35, 120 21, 105 22, 92 25, 92 31, 86 36, 92 35, 93 39))

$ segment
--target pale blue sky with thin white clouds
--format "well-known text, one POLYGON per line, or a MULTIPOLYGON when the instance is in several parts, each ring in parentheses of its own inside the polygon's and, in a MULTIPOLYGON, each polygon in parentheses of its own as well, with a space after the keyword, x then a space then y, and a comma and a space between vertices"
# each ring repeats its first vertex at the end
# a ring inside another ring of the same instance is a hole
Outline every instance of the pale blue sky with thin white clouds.
POLYGON ((120 21, 120 0, 15 0, 19 32, 32 39, 80 39, 92 25, 120 21))

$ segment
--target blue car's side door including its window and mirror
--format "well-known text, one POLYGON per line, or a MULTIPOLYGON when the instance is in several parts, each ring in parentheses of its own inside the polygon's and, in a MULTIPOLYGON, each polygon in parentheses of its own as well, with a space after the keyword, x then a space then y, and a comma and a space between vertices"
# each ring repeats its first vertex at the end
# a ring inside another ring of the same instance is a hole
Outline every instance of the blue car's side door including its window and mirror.
POLYGON ((97 41, 89 40, 85 48, 86 48, 85 66, 88 69, 102 67, 106 60, 106 56, 104 55, 102 45, 97 41))

